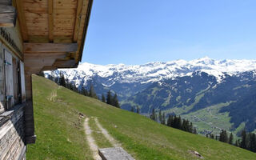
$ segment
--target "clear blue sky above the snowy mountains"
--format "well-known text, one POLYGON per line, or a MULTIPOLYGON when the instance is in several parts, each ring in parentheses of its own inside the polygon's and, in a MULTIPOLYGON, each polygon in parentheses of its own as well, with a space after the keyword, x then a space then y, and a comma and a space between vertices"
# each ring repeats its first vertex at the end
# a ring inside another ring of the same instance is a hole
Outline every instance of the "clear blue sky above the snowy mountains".
POLYGON ((256 0, 94 0, 82 62, 256 59, 256 0))

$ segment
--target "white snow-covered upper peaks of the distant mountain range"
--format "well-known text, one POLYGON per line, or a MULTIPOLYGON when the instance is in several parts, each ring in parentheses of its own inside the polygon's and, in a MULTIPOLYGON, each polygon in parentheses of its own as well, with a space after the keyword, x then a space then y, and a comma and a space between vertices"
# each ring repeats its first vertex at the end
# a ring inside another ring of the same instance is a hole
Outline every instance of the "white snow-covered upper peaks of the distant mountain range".
MULTIPOLYGON (((195 71, 214 75, 218 82, 222 82, 225 74, 234 75, 245 71, 256 70, 256 60, 214 60, 208 57, 192 61, 176 60, 170 62, 149 62, 144 65, 126 66, 94 65, 81 63, 77 69, 62 71, 69 81, 77 86, 86 86, 87 82, 100 77, 103 86, 112 86, 115 83, 149 83, 163 79, 192 75, 195 71)), ((53 74, 57 76, 58 71, 53 74)), ((50 72, 46 72, 50 74, 50 72)))

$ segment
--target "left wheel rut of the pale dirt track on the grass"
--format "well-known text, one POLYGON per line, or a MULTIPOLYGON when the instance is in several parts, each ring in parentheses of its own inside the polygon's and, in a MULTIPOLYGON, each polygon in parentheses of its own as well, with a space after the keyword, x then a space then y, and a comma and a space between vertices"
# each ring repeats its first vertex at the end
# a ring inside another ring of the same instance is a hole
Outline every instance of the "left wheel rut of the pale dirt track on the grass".
POLYGON ((98 155, 98 146, 96 145, 95 140, 91 134, 92 130, 90 130, 89 120, 90 118, 86 118, 85 125, 84 125, 85 131, 86 131, 86 139, 90 146, 90 150, 93 153, 94 160, 102 160, 102 158, 98 155))

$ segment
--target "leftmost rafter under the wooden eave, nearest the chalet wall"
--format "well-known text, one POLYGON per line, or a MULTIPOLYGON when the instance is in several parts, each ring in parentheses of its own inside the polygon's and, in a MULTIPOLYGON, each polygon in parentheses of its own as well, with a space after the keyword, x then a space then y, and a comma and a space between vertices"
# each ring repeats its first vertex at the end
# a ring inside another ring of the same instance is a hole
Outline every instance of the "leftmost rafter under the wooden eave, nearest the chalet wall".
POLYGON ((16 0, 16 6, 18 10, 18 22, 20 24, 21 30, 22 30, 22 38, 24 42, 28 41, 28 35, 27 35, 27 27, 26 27, 26 19, 24 14, 24 7, 23 7, 23 1, 22 0, 16 0))

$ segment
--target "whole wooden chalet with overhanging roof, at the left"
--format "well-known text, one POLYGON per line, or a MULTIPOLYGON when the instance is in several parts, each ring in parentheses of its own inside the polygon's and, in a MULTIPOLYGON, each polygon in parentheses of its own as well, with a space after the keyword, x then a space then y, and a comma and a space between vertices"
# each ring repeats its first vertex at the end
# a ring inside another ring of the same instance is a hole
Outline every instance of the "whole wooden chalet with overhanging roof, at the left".
POLYGON ((34 143, 31 75, 74 68, 93 0, 0 0, 0 160, 34 143))

